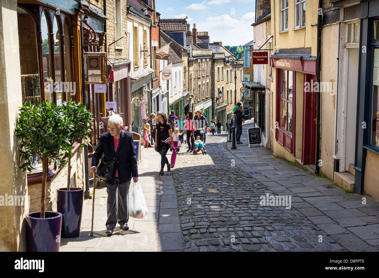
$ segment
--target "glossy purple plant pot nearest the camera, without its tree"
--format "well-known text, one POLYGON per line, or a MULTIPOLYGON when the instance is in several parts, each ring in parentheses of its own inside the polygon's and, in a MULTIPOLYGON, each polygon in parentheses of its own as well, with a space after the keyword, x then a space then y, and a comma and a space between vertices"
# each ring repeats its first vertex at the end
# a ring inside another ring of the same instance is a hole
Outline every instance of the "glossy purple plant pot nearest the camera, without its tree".
POLYGON ((45 218, 39 218, 39 214, 36 211, 25 216, 27 251, 58 252, 61 244, 62 214, 45 211, 45 218))

